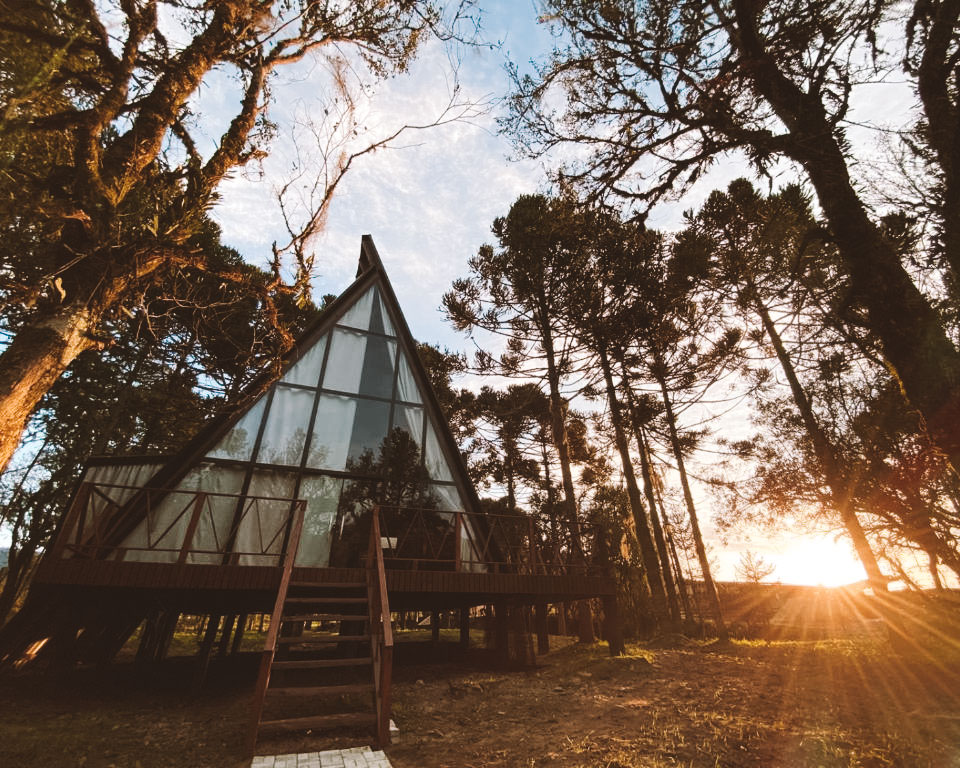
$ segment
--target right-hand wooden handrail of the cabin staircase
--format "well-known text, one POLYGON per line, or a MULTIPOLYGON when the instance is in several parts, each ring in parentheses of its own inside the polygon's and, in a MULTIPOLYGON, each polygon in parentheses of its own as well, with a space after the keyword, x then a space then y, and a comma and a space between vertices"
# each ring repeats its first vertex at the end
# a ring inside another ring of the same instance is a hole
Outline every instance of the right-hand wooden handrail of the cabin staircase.
POLYGON ((370 550, 367 557, 367 598, 370 608, 370 654, 373 659, 373 686, 377 715, 377 743, 390 744, 390 684, 393 673, 393 627, 387 573, 380 538, 380 507, 370 516, 370 550))

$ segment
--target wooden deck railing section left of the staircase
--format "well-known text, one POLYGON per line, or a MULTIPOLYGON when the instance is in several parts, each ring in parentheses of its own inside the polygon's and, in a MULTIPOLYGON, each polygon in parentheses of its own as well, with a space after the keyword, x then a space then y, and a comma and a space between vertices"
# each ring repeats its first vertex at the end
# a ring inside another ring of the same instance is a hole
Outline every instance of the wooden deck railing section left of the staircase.
POLYGON ((85 482, 50 557, 281 565, 305 510, 302 499, 85 482))

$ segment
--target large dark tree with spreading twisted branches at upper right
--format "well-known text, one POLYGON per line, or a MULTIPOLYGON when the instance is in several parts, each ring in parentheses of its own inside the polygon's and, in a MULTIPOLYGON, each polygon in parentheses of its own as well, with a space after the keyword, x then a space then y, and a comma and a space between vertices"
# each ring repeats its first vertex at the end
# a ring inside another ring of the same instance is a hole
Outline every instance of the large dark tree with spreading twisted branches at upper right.
MULTIPOLYGON (((535 155, 573 143, 586 152, 564 176, 596 194, 652 202, 686 188, 718 157, 744 152, 765 171, 786 158, 810 180, 849 276, 851 300, 934 444, 960 466, 960 351, 870 216, 850 174, 850 95, 882 67, 877 38, 902 23, 873 0, 553 0, 544 18, 564 44, 536 76, 516 76, 504 126, 535 155), (872 54, 872 57, 871 57, 872 54), (555 93, 565 102, 556 109, 555 93)), ((960 122, 955 4, 917 0, 905 73, 915 73, 920 134, 938 183, 955 193, 960 122)), ((946 200, 944 206, 948 205, 946 200)), ((949 212, 955 217, 955 206, 949 212)), ((944 216, 943 232, 954 231, 944 216)), ((952 218, 950 221, 952 222, 952 218)), ((942 238, 952 277, 960 265, 942 238)))

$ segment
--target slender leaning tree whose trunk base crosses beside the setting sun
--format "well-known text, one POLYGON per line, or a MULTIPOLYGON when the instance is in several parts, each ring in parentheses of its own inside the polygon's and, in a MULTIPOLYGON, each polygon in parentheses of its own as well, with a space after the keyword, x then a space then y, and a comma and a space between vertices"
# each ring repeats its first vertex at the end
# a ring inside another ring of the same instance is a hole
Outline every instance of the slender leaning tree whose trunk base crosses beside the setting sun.
POLYGON ((842 284, 828 284, 826 270, 806 266, 823 267, 832 261, 825 253, 832 246, 818 236, 809 202, 795 186, 763 197, 749 181, 734 181, 725 192, 713 192, 700 211, 688 216, 679 247, 697 251, 698 258, 709 261, 714 286, 730 297, 728 312, 733 321, 740 325, 745 317, 752 316, 754 326, 747 335, 768 339, 813 448, 816 466, 811 467, 812 472, 822 475, 828 486, 833 510, 853 542, 871 585, 885 590, 887 579, 880 572, 853 508, 862 473, 845 460, 818 419, 795 363, 795 358, 803 356, 815 356, 815 363, 824 363, 836 352, 838 343, 844 356, 857 355, 845 339, 832 333, 831 327, 824 328, 824 323, 818 322, 816 307, 811 306, 809 284, 817 281, 820 293, 831 294, 833 324, 843 324, 838 306, 843 301, 842 284), (816 341, 805 339, 790 350, 781 326, 809 328, 804 335, 816 341))

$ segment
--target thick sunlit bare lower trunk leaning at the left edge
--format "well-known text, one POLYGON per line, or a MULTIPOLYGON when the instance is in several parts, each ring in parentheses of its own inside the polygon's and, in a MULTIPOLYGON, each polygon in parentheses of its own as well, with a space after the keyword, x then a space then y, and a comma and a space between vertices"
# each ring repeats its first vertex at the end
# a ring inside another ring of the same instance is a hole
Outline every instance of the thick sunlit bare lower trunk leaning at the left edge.
POLYGON ((79 303, 20 329, 0 354, 0 472, 40 399, 77 355, 95 346, 93 318, 79 303))

